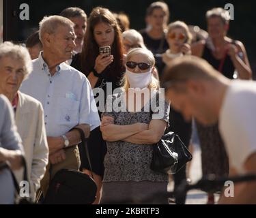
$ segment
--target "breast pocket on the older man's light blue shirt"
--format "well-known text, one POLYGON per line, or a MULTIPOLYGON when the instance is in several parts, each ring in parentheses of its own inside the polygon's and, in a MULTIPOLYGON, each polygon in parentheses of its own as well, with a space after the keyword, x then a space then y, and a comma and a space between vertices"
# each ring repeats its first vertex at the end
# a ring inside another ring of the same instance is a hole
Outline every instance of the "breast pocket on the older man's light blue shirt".
POLYGON ((58 108, 57 122, 59 125, 72 128, 79 124, 79 102, 74 99, 66 97, 59 97, 57 99, 58 108))

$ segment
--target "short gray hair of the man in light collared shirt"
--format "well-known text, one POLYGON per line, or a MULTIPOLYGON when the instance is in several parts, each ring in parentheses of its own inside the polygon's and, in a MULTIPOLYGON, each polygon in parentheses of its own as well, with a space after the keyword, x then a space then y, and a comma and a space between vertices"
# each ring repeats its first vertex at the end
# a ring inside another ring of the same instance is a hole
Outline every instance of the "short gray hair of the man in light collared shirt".
POLYGON ((68 18, 58 15, 44 16, 44 18, 39 22, 39 38, 41 42, 42 35, 44 35, 44 33, 53 34, 60 25, 74 28, 74 22, 68 18))

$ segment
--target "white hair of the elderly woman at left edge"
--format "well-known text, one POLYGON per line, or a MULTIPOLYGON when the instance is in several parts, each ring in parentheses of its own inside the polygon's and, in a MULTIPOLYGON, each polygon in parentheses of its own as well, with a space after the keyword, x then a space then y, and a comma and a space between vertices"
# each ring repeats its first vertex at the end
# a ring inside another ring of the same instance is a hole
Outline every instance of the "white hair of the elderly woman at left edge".
POLYGON ((3 57, 11 57, 24 62, 24 78, 27 78, 32 71, 32 61, 29 51, 24 46, 13 44, 12 42, 3 42, 0 44, 0 61, 3 57))

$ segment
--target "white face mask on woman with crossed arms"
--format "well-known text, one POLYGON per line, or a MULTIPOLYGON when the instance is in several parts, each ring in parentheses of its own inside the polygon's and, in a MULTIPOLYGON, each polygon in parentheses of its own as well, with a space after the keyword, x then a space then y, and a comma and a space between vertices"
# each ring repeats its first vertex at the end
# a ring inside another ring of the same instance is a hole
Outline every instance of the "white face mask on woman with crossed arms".
POLYGON ((148 72, 139 74, 132 73, 126 68, 126 76, 128 78, 130 88, 143 89, 147 87, 152 80, 152 68, 150 68, 150 71, 148 72))

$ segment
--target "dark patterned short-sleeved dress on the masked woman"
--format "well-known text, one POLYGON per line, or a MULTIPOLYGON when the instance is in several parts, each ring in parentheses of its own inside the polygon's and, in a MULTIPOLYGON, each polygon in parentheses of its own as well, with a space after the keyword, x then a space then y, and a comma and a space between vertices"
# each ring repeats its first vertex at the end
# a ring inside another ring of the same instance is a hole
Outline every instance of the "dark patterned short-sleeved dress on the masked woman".
MULTIPOLYGON (((152 99, 155 97, 156 95, 154 95, 152 99)), ((116 112, 116 107, 120 107, 122 101, 124 101, 124 93, 112 95, 111 100, 107 101, 111 104, 110 108, 112 111, 103 112, 102 116, 113 116, 115 125, 131 125, 134 123, 149 124, 152 120, 152 114, 159 114, 159 112, 154 112, 156 108, 154 108, 153 105, 151 106, 152 113, 150 110, 146 110, 146 108, 149 108, 149 102, 145 104, 141 112, 128 112, 126 108, 116 112), (115 104, 115 102, 119 102, 119 104, 115 104)), ((154 100, 151 102, 154 102, 154 100)), ((159 99, 159 106, 162 111, 161 119, 168 122, 169 104, 165 102, 164 99, 159 99)), ((102 204, 117 202, 117 199, 135 203, 134 200, 132 200, 133 197, 129 196, 129 193, 131 195, 131 193, 134 193, 134 190, 136 190, 137 196, 141 194, 144 195, 145 193, 140 193, 142 190, 140 191, 138 188, 141 186, 141 183, 143 183, 144 187, 147 187, 147 195, 141 197, 141 200, 137 202, 140 204, 145 203, 145 198, 150 196, 153 190, 167 191, 168 175, 154 172, 150 169, 153 144, 133 144, 120 140, 116 142, 106 142, 106 146, 107 153, 104 158, 105 171, 102 188, 102 204), (160 189, 156 189, 158 186, 160 189), (128 190, 126 196, 122 196, 124 195, 122 191, 117 191, 120 187, 128 190), (111 191, 112 193, 106 191, 113 189, 116 191, 111 191)), ((158 197, 156 196, 156 198, 158 197)), ((158 203, 160 203, 160 201, 158 203)))

